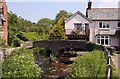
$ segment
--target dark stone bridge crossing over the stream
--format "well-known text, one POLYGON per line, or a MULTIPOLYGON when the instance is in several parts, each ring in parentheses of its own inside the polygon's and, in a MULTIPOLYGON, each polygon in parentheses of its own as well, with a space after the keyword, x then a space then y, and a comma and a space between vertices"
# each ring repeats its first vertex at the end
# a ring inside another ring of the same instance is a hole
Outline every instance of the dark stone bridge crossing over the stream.
POLYGON ((46 48, 47 56, 50 56, 50 53, 54 53, 56 56, 60 56, 61 53, 65 50, 74 49, 75 50, 85 50, 86 47, 85 41, 79 40, 42 40, 34 41, 33 48, 41 47, 46 48))

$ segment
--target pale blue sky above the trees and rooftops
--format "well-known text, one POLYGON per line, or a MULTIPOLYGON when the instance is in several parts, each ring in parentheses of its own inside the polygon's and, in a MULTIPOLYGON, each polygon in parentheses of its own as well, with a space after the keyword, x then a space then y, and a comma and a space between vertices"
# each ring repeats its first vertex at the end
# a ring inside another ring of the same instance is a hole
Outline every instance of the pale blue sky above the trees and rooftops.
MULTIPOLYGON (((119 0, 91 0, 93 8, 117 8, 119 0)), ((7 0, 8 11, 32 22, 41 18, 54 19, 60 10, 85 14, 88 0, 7 0)))

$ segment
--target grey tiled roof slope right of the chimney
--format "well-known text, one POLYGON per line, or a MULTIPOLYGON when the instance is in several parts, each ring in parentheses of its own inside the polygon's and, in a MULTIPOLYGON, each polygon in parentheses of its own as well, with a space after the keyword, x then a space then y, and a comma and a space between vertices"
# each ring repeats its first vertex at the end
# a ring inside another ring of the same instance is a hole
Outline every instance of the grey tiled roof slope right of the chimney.
POLYGON ((88 10, 88 18, 92 20, 118 20, 120 8, 92 8, 88 10))

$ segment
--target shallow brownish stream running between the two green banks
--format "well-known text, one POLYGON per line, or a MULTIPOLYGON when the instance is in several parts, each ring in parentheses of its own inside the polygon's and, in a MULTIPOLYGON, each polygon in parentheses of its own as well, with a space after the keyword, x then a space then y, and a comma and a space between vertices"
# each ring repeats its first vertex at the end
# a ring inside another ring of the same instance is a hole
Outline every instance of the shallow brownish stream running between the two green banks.
MULTIPOLYGON (((74 55, 75 57, 77 55, 74 55)), ((75 58, 74 57, 74 58, 75 58)), ((42 69, 42 79, 65 79, 68 75, 68 68, 73 61, 69 60, 70 54, 66 54, 61 56, 61 58, 57 61, 50 61, 49 57, 35 57, 36 63, 42 69), (68 57, 68 56, 69 57, 68 57), (66 58, 68 57, 68 58, 66 58)))

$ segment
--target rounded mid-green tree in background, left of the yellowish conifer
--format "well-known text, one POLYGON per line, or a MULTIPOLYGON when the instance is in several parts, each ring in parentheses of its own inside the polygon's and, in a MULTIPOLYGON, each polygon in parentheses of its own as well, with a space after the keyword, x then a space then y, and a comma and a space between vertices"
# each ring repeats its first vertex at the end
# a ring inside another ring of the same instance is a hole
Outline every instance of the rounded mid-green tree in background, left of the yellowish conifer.
POLYGON ((37 22, 38 29, 40 29, 43 33, 48 34, 52 23, 53 23, 53 21, 51 19, 42 18, 37 22))

